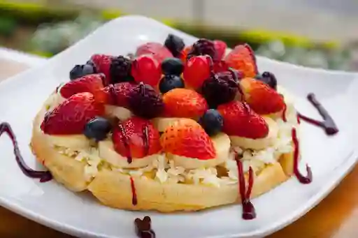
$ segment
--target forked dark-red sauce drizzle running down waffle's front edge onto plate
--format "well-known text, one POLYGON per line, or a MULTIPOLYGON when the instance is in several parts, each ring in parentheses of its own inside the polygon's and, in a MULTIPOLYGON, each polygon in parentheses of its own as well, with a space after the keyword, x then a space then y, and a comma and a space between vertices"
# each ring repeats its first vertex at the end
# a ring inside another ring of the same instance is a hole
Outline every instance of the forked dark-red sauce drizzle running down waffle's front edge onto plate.
POLYGON ((243 205, 243 219, 252 220, 256 218, 255 207, 250 201, 252 186, 254 185, 254 171, 250 167, 249 169, 249 179, 248 179, 248 189, 245 193, 245 177, 243 174, 243 164, 240 161, 240 158, 236 156, 236 164, 238 165, 238 185, 241 195, 241 204, 243 205))

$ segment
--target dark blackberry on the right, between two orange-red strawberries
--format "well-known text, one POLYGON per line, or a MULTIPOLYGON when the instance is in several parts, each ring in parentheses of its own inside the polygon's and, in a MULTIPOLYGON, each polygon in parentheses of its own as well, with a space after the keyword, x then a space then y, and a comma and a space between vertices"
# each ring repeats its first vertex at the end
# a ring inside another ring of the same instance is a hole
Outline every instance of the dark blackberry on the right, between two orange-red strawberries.
POLYGON ((212 74, 203 83, 201 92, 210 107, 217 107, 217 105, 234 100, 238 93, 236 73, 232 70, 231 72, 212 74))

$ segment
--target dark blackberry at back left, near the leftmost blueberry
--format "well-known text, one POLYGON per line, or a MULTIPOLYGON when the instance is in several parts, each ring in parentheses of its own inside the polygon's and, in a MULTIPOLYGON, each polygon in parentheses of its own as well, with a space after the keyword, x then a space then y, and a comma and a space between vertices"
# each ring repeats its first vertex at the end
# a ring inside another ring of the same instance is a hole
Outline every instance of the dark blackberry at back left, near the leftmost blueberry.
POLYGON ((131 82, 131 60, 120 55, 112 59, 110 64, 110 82, 115 84, 117 82, 131 82))

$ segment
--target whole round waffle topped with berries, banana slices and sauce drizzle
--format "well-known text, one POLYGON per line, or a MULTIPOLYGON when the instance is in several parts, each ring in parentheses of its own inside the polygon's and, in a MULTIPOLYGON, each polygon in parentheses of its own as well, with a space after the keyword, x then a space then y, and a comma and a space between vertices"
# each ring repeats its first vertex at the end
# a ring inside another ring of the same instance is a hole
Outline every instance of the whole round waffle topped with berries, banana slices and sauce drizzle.
POLYGON ((303 177, 294 97, 259 73, 249 45, 220 40, 94 54, 34 119, 38 161, 71 191, 130 210, 196 211, 241 202, 303 177))

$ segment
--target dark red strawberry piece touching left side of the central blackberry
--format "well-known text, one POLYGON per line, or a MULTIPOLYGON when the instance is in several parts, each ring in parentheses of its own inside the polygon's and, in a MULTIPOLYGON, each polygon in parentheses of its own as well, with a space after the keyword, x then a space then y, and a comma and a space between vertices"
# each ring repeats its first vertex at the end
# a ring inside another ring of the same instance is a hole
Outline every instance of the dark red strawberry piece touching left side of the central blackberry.
POLYGON ((106 104, 116 105, 118 107, 129 107, 129 94, 136 84, 131 82, 119 82, 103 88, 106 94, 106 104))

